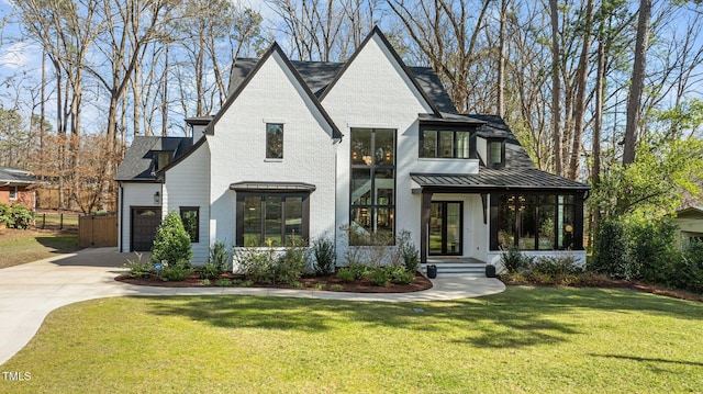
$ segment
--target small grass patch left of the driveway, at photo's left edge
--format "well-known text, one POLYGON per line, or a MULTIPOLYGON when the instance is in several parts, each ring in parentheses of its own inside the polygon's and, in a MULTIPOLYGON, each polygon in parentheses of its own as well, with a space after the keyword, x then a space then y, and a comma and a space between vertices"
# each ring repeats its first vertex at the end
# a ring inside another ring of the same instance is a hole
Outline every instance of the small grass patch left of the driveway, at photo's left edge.
MULTIPOLYGON (((78 250, 78 236, 60 233, 7 230, 0 236, 0 268, 78 250)), ((1 387, 1 386, 0 386, 1 387)))

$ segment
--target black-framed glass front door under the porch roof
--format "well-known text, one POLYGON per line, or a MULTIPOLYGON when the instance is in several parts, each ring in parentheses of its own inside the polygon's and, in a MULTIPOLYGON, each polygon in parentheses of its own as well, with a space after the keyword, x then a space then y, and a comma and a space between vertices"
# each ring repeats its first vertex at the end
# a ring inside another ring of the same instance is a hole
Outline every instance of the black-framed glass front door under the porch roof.
POLYGON ((461 256, 464 203, 433 201, 429 210, 429 255, 461 256))

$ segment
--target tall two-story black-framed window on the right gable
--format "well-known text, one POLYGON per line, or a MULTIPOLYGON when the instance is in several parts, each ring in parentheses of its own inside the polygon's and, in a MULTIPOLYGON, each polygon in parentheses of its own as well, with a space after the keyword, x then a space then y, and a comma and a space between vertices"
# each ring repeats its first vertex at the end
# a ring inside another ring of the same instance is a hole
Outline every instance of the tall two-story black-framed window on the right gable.
POLYGON ((392 243, 395 221, 395 131, 352 128, 349 243, 373 235, 392 243))

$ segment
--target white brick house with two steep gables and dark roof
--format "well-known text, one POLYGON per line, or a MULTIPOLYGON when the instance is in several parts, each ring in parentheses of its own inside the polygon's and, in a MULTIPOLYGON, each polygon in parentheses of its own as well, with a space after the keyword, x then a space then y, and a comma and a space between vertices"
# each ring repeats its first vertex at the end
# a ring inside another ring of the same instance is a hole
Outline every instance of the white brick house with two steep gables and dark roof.
POLYGON ((500 116, 458 114, 436 74, 408 67, 379 29, 344 64, 291 61, 277 44, 237 59, 217 114, 187 122, 188 150, 158 149, 171 140, 159 137, 129 149, 121 250, 148 249, 157 218, 176 211, 198 223, 194 262, 217 240, 297 235, 334 238, 343 256, 344 227, 406 229, 422 262, 496 263, 510 245, 585 261, 589 187, 536 169, 500 116))

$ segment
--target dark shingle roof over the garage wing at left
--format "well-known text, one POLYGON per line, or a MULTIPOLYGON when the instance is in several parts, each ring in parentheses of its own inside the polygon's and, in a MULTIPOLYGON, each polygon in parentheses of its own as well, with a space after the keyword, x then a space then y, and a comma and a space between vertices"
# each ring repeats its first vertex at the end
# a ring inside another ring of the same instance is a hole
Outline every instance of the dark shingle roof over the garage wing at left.
POLYGON ((191 137, 134 137, 132 145, 124 155, 124 160, 114 177, 118 181, 156 180, 154 171, 154 151, 172 151, 172 159, 183 155, 193 145, 191 137))

